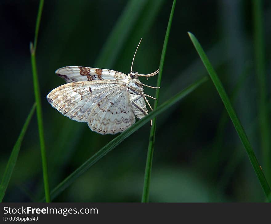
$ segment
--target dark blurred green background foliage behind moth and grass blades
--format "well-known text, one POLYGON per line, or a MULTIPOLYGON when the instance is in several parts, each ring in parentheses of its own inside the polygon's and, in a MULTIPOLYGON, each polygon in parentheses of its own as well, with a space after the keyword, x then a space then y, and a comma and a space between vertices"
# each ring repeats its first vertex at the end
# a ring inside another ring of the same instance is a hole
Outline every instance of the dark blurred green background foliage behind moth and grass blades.
MULTIPOLYGON (((46 101, 53 88, 64 83, 57 68, 78 65, 95 67, 108 36, 125 10, 125 0, 45 1, 37 44, 37 68, 42 98, 50 188, 79 167, 114 138, 91 132, 87 124, 72 121, 46 101)), ((119 52, 108 68, 128 73, 135 48, 134 70, 155 71, 159 65, 172 1, 142 2, 142 10, 119 33, 119 52), (160 3, 161 2, 161 3, 160 3), (153 13, 157 10, 157 13, 153 13), (148 14, 153 13, 152 19, 148 14), (127 27, 123 29, 127 30, 127 27)), ((38 1, 0 3, 2 30, 2 150, 0 179, 11 149, 33 105, 34 93, 29 42, 33 41, 38 1), (12 83, 12 85, 11 85, 12 83), (5 114, 4 114, 5 112, 5 114)), ((265 61, 270 104, 271 2, 263 1, 265 61)), ((251 65, 238 88, 233 105, 261 162, 257 112, 257 80, 253 51, 251 1, 177 1, 164 64, 159 104, 199 77, 207 75, 187 35, 191 31, 206 50, 217 74, 231 95, 241 75, 251 65)), ((144 80, 155 85, 156 78, 144 80)), ((154 95, 154 90, 145 88, 154 95)), ((153 103, 153 102, 151 102, 153 103)), ((269 117, 270 117, 269 105, 269 117)), ((157 118, 156 144, 150 188, 151 202, 261 202, 264 193, 245 150, 228 120, 219 123, 224 106, 208 81, 157 118), (221 141, 217 141, 217 136, 221 141), (217 143, 218 142, 218 143, 217 143)), ((146 124, 103 157, 59 195, 55 202, 139 202, 150 126, 146 124)), ((271 158, 270 158, 271 159, 271 158)), ((271 161, 271 160, 270 160, 271 161)), ((265 170, 265 167, 263 167, 265 170)), ((23 139, 17 164, 3 199, 28 202, 44 196, 36 119, 23 139)))

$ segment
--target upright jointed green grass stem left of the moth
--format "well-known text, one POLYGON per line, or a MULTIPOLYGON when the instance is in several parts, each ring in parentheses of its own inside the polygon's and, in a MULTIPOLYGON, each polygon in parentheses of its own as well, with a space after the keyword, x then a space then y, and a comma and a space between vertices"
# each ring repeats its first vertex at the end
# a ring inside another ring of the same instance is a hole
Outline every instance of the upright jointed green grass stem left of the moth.
POLYGON ((38 133, 39 133, 39 141, 40 141, 40 149, 41 149, 41 157, 42 157, 44 190, 45 190, 46 202, 50 202, 51 200, 50 200, 50 190, 49 190, 49 181, 48 181, 48 172, 47 172, 47 159, 46 159, 43 122, 42 122, 42 108, 41 108, 40 90, 39 90, 39 84, 38 84, 38 72, 37 72, 37 64, 36 64, 36 47, 37 47, 37 40, 38 40, 38 29, 39 29, 40 20, 41 20, 43 4, 44 4, 44 1, 40 0, 39 8, 38 8, 38 16, 37 16, 37 21, 36 21, 34 46, 32 43, 30 43, 30 52, 31 52, 34 94, 35 94, 35 100, 37 103, 38 133))

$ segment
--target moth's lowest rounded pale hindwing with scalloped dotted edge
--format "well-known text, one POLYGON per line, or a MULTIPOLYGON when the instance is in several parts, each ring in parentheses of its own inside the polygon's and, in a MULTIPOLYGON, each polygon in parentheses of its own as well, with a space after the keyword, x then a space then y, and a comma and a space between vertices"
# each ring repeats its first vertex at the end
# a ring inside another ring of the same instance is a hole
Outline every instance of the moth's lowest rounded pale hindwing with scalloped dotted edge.
POLYGON ((129 94, 125 89, 116 91, 114 97, 100 101, 91 110, 87 121, 92 131, 101 134, 115 134, 123 132, 136 121, 129 102, 129 94))

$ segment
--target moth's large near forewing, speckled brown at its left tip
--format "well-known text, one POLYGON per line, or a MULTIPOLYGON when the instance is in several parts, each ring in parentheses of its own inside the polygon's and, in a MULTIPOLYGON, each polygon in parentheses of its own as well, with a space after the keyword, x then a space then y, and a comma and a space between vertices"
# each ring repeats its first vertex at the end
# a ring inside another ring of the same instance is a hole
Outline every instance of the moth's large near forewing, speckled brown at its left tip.
POLYGON ((114 98, 118 91, 125 91, 125 83, 117 80, 66 83, 53 89, 47 100, 68 118, 87 122, 91 111, 104 99, 114 98))

